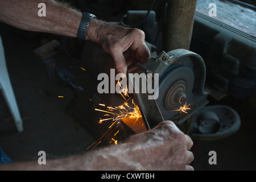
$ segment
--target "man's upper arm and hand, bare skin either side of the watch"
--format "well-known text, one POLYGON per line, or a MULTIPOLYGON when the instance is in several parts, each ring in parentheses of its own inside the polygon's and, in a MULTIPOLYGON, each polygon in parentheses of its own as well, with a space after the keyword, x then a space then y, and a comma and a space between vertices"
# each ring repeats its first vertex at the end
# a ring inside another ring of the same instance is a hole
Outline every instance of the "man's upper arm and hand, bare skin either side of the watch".
MULTIPOLYGON (((28 31, 77 37, 82 13, 53 0, 0 0, 0 21, 28 31), (46 16, 38 16, 38 4, 46 4, 46 16)), ((92 19, 86 39, 101 44, 113 57, 119 73, 134 72, 135 63, 150 57, 144 32, 92 19)))

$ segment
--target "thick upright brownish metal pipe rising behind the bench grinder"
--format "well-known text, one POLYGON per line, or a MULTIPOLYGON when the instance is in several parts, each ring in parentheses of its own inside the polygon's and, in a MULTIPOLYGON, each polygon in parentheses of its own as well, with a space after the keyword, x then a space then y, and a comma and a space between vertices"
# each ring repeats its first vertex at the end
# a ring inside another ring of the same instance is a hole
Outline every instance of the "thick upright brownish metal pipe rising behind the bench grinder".
POLYGON ((188 49, 191 43, 196 0, 167 0, 164 50, 188 49))

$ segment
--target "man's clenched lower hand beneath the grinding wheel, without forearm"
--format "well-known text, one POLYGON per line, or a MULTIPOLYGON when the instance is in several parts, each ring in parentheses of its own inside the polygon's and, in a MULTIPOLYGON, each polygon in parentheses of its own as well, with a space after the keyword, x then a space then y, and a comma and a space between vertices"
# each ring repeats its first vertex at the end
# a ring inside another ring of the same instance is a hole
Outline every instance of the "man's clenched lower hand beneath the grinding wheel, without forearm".
POLYGON ((137 160, 143 170, 193 170, 191 138, 171 121, 160 123, 145 134, 135 135, 129 142, 133 148, 131 160, 137 160))

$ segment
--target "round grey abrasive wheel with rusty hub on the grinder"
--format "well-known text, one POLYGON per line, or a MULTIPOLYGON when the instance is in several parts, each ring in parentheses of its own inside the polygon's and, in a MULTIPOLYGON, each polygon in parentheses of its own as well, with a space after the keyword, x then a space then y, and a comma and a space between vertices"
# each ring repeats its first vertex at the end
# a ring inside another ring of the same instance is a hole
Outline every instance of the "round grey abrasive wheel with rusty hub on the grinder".
POLYGON ((172 65, 159 80, 159 97, 156 102, 165 120, 171 119, 186 102, 192 100, 194 74, 182 64, 172 65))

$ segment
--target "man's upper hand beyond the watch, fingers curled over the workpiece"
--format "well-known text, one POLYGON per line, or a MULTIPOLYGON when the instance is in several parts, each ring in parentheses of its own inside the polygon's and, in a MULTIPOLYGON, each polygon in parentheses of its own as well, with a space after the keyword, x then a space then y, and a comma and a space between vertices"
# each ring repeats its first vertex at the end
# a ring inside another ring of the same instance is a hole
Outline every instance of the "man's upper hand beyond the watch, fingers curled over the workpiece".
POLYGON ((144 64, 150 57, 150 51, 144 42, 145 35, 137 28, 127 28, 92 19, 86 39, 100 43, 113 57, 118 73, 135 72, 135 63, 144 64))

